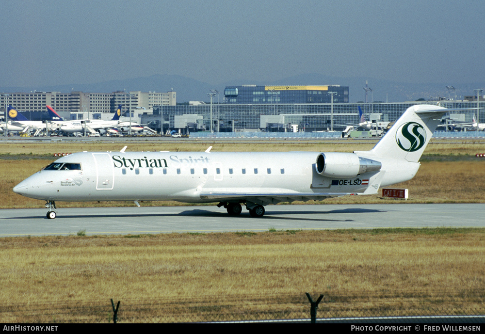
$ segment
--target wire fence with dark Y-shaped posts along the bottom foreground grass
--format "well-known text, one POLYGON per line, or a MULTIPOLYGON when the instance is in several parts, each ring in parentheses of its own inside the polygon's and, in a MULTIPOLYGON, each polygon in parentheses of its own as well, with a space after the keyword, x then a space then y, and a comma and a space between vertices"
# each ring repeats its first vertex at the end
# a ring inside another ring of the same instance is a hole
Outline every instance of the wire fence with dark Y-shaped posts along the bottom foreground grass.
MULTIPOLYGON (((310 319, 320 293, 194 296, 166 299, 25 302, 0 304, 4 323, 175 323, 310 319), (315 306, 315 305, 314 305, 315 306)), ((485 291, 429 295, 387 292, 370 295, 325 292, 316 318, 484 315, 485 291)))

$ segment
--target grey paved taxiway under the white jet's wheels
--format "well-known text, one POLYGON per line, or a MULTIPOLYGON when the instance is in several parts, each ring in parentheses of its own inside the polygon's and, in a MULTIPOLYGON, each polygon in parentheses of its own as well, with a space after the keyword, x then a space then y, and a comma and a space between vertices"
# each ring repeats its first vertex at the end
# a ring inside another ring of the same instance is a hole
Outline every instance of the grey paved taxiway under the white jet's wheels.
POLYGON ((0 237, 171 232, 227 232, 385 227, 485 227, 485 204, 372 204, 267 206, 263 218, 243 209, 237 217, 224 208, 113 207, 0 210, 0 237))

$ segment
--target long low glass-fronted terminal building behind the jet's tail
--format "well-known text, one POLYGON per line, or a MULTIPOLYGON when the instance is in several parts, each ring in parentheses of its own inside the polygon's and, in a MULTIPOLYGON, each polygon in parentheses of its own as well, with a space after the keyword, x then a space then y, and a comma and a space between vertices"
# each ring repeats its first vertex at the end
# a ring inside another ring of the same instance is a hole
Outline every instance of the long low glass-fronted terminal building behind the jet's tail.
MULTIPOLYGON (((141 122, 152 122, 150 127, 160 130, 180 129, 183 133, 209 131, 212 119, 213 132, 291 132, 297 125, 298 131, 312 132, 334 130, 349 124, 358 124, 358 107, 364 111, 366 120, 382 122, 397 120, 407 108, 416 104, 433 104, 445 108, 470 108, 469 111, 451 111, 459 114, 460 121, 472 122, 477 102, 469 101, 413 101, 402 103, 261 103, 261 104, 202 104, 157 106, 153 115, 141 115, 141 122), (333 112, 332 112, 333 110, 333 112), (211 116, 212 115, 212 116, 211 116)), ((485 102, 480 102, 480 120, 485 119, 485 102)))

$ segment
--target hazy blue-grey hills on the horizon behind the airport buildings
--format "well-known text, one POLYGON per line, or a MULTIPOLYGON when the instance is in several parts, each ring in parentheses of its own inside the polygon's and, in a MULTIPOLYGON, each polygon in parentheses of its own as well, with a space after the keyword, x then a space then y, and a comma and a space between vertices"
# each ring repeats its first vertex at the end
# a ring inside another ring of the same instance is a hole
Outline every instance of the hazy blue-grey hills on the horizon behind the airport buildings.
MULTIPOLYGON (((113 92, 118 90, 142 91, 142 92, 168 92, 173 90, 177 92, 177 101, 209 101, 208 93, 210 89, 216 89, 220 92, 219 101, 224 100, 224 88, 226 86, 240 86, 243 84, 256 85, 327 85, 337 84, 349 86, 349 102, 358 102, 365 100, 365 82, 368 80, 369 87, 373 90, 374 101, 386 102, 404 102, 415 101, 419 98, 436 99, 437 97, 451 97, 455 95, 458 99, 465 95, 473 95, 473 89, 485 89, 485 83, 468 83, 455 85, 450 82, 446 83, 404 83, 390 80, 380 80, 375 78, 341 78, 331 77, 322 74, 308 73, 298 76, 283 78, 280 80, 261 82, 261 81, 227 81, 222 83, 210 84, 207 82, 194 80, 192 78, 178 75, 155 74, 149 77, 110 80, 97 83, 73 83, 69 85, 58 86, 40 86, 40 87, 0 87, 4 93, 13 92, 31 92, 33 90, 43 92, 70 92, 82 91, 86 93, 113 92), (447 85, 453 85, 456 91, 449 94, 447 85)), ((368 101, 371 101, 372 95, 369 93, 368 101)), ((217 101, 218 97, 214 98, 217 101)))

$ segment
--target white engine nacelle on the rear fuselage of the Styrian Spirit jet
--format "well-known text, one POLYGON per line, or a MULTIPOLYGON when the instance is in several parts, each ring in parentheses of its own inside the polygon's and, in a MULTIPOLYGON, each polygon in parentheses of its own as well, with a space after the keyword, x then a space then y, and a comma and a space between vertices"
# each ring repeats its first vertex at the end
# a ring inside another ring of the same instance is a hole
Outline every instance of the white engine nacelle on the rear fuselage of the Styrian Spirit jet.
POLYGON ((320 153, 315 161, 317 173, 327 177, 355 177, 381 169, 381 163, 372 159, 361 158, 355 153, 320 153))

